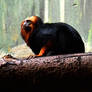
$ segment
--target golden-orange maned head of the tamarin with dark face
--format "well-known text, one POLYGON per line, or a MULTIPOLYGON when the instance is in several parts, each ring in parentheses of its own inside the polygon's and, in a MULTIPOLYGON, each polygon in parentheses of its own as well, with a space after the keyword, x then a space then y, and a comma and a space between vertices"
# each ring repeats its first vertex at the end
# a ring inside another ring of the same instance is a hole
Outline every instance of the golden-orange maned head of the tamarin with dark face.
POLYGON ((22 21, 21 35, 26 43, 28 43, 28 39, 31 36, 32 32, 35 31, 35 29, 41 24, 43 24, 43 21, 38 16, 28 17, 24 21, 22 21))

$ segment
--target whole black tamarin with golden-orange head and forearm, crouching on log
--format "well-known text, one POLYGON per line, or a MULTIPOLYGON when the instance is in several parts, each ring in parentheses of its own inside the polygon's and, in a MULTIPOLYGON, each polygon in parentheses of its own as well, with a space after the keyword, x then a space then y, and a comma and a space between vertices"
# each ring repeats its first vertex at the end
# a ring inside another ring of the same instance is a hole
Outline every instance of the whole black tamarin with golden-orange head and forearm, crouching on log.
POLYGON ((43 23, 32 16, 21 23, 21 36, 36 56, 84 53, 79 33, 66 23, 43 23))

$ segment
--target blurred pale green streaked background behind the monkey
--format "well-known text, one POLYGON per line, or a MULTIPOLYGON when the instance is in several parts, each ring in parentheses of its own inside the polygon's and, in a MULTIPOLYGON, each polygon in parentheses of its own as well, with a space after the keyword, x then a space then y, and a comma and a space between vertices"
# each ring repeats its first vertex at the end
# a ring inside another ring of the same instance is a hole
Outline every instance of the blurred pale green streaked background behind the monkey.
POLYGON ((24 43, 20 36, 20 24, 33 15, 40 16, 45 22, 72 25, 85 44, 91 47, 91 10, 92 0, 0 0, 0 50, 8 52, 24 43))

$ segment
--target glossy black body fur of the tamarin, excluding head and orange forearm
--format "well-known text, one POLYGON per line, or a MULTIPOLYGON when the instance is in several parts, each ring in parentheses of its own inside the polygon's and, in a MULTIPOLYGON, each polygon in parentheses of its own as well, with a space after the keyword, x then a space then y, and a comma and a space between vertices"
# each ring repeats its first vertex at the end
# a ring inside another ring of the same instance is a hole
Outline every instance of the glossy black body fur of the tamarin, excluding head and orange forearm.
POLYGON ((28 42, 33 52, 39 54, 41 48, 49 40, 53 45, 43 56, 85 52, 84 43, 79 33, 68 24, 43 23, 34 29, 28 42))

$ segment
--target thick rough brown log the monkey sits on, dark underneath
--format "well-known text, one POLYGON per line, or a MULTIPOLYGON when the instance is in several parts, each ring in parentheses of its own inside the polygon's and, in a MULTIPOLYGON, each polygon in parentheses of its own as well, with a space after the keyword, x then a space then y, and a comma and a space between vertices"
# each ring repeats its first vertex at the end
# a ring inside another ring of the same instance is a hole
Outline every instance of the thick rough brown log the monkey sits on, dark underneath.
POLYGON ((9 91, 92 92, 92 53, 28 60, 5 56, 0 59, 0 83, 9 91))

